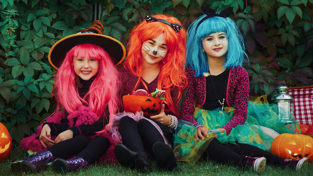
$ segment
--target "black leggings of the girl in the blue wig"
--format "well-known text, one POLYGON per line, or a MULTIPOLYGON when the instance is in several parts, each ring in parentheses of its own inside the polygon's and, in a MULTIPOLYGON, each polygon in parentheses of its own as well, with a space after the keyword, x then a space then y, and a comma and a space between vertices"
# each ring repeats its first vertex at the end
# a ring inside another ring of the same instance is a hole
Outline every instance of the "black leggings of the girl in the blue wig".
POLYGON ((222 144, 217 140, 217 138, 213 138, 207 149, 204 151, 203 156, 205 158, 209 157, 219 163, 234 162, 235 164, 239 164, 239 160, 242 158, 242 155, 250 152, 253 154, 253 157, 266 158, 266 163, 276 166, 284 164, 284 158, 280 158, 270 152, 259 149, 253 145, 238 143, 237 141, 236 144, 222 144))

